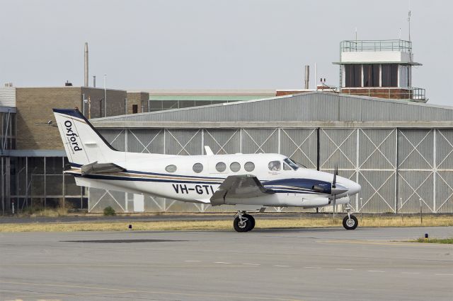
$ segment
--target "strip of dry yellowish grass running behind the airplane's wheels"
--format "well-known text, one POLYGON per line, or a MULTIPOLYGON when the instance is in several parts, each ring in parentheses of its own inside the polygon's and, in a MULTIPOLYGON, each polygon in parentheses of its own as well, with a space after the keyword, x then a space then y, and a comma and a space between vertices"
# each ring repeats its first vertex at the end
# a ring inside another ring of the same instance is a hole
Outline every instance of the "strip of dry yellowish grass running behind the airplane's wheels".
MULTIPOLYGON (((132 224, 133 230, 231 230, 232 220, 150 221, 111 223, 5 223, 0 232, 71 232, 71 231, 122 231, 132 224)), ((359 227, 431 227, 453 226, 453 216, 364 217, 359 218, 359 227)), ((283 218, 256 219, 256 228, 318 228, 342 227, 342 219, 336 218, 283 218)))

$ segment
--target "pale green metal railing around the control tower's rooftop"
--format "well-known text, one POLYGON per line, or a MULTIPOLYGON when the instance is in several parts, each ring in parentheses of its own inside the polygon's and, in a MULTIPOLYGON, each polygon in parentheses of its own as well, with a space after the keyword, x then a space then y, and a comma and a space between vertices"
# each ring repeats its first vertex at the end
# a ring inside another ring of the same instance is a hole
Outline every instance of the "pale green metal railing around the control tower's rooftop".
POLYGON ((412 52, 412 42, 406 40, 345 40, 340 42, 341 52, 412 52))

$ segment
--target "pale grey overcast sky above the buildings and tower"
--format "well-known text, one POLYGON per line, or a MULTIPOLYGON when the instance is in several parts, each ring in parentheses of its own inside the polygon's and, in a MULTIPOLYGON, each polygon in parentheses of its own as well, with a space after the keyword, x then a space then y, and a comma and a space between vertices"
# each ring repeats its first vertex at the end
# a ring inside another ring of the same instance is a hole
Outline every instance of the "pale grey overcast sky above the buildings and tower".
POLYGON ((117 89, 303 88, 304 65, 338 85, 341 40, 408 38, 413 86, 453 105, 451 1, 0 0, 0 84, 117 89))

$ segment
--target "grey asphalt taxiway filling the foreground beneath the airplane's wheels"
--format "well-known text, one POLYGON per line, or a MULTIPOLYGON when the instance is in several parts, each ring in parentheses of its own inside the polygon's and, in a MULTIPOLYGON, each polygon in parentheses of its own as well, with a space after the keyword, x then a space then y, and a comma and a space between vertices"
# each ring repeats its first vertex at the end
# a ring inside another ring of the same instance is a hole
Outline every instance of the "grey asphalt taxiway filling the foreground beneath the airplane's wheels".
POLYGON ((453 300, 453 227, 0 233, 0 300, 453 300))

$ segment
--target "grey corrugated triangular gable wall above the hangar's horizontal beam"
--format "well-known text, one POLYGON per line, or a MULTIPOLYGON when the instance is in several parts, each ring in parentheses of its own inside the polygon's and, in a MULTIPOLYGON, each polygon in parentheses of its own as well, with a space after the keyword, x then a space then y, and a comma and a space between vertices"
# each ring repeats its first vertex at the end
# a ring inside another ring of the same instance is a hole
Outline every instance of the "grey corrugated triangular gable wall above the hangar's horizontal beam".
POLYGON ((452 121, 451 107, 382 100, 333 93, 305 93, 284 98, 231 102, 96 119, 110 122, 368 122, 452 121))

